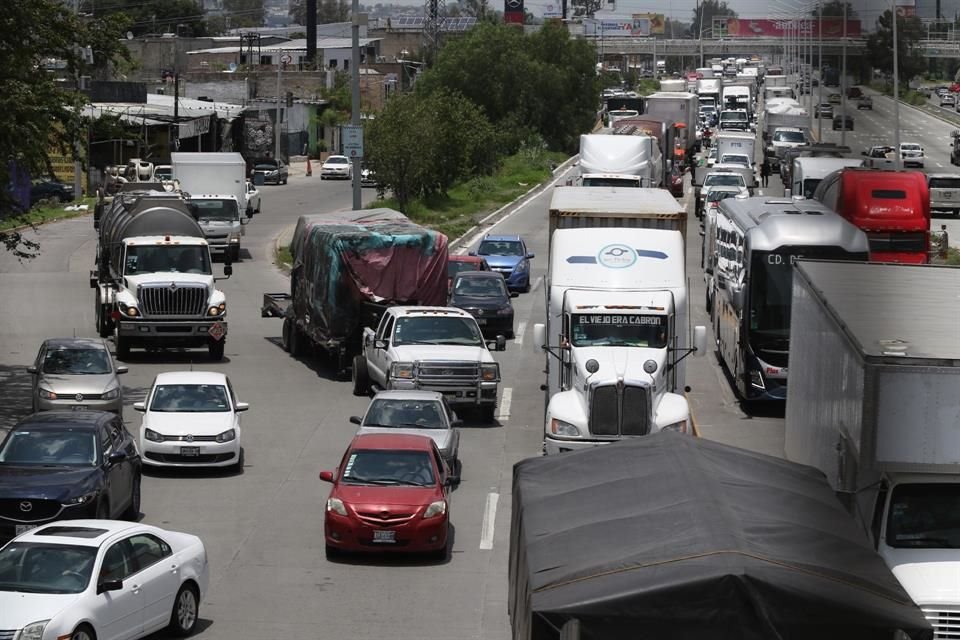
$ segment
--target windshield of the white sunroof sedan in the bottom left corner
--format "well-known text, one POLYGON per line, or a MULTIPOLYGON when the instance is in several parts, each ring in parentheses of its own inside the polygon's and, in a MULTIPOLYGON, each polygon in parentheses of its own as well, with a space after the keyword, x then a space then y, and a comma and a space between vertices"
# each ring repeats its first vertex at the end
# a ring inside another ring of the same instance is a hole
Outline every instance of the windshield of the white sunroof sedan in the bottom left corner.
POLYGON ((0 592, 82 593, 97 547, 11 542, 0 550, 0 592))

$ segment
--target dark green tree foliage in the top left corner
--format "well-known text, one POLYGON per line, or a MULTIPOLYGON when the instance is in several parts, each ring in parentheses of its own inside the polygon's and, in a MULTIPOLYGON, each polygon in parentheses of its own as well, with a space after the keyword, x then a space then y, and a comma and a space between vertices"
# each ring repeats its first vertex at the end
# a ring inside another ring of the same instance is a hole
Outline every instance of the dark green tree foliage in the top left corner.
MULTIPOLYGON (((23 208, 7 188, 13 169, 31 176, 52 173, 51 155, 78 158, 86 98, 62 82, 123 60, 122 17, 87 19, 58 0, 14 2, 0 12, 0 215, 22 217, 23 208), (87 49, 89 47, 89 49, 87 49), (92 62, 86 52, 92 53, 92 62), (54 70, 61 61, 63 70, 54 70)), ((129 57, 126 58, 129 61, 129 57)), ((16 231, 0 232, 15 255, 36 254, 36 243, 16 231)))

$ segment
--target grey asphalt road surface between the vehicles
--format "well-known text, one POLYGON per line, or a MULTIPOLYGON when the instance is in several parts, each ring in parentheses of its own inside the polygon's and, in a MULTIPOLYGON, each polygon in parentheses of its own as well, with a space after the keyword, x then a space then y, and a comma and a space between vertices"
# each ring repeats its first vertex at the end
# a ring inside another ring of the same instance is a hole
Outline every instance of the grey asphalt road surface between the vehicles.
MULTIPOLYGON (((776 195, 774 182, 770 192, 776 195)), ((289 185, 263 191, 263 213, 247 227, 244 260, 235 265, 232 278, 221 282, 230 323, 224 361, 210 364, 204 352, 134 352, 124 379, 129 407, 157 373, 193 364, 226 372, 239 399, 251 405, 243 418, 241 474, 164 472, 144 478, 144 519, 196 533, 207 544, 211 586, 201 606, 198 637, 509 638, 512 465, 539 455, 542 442, 544 356, 531 349, 530 340, 532 324, 544 316, 550 189, 497 225, 498 232, 527 240, 537 256, 536 284, 515 299, 516 339, 506 352, 495 354, 504 379, 498 424, 463 428, 463 481, 451 504, 453 552, 442 563, 328 562, 324 557, 329 486, 317 474, 337 464, 355 431, 347 418, 360 414, 367 401, 351 395, 350 383, 333 379, 323 362, 284 353, 280 321, 262 319, 260 304, 263 292, 287 290, 287 279, 271 264, 274 238, 302 213, 349 207, 350 187, 292 176, 289 185)), ((364 195, 373 196, 371 190, 364 195)), ((699 302, 704 291, 698 224, 692 213, 690 218, 691 315, 694 324, 709 327, 699 302)), ((41 340, 93 334, 93 292, 87 281, 96 244, 91 218, 47 225, 36 239, 42 246, 36 260, 21 264, 0 254, 5 300, 0 306, 0 425, 28 411, 29 379, 23 368, 41 340)), ((687 376, 703 437, 782 454, 782 415, 745 415, 713 354, 691 358, 687 376)), ((125 418, 135 432, 139 414, 128 408, 125 418)))

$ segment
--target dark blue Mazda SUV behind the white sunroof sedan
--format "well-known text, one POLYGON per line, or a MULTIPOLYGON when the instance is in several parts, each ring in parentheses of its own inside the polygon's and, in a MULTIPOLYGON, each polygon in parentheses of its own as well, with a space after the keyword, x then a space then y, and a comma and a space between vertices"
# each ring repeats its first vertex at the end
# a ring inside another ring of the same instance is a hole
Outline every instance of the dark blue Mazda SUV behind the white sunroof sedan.
POLYGON ((140 469, 134 439, 118 415, 35 413, 0 443, 0 539, 54 520, 136 520, 140 469))

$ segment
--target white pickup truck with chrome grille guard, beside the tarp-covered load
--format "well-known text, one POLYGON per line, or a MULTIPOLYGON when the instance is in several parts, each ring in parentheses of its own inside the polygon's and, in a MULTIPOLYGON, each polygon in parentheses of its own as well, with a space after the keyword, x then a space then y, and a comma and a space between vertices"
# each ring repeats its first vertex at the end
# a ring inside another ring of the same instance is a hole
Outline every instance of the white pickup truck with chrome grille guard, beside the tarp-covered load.
MULTIPOLYGON (((363 331, 362 352, 353 360, 353 392, 424 389, 443 394, 457 410, 476 409, 493 422, 500 365, 477 321, 452 307, 390 307, 376 330, 363 331)), ((505 351, 506 339, 489 342, 505 351)))

